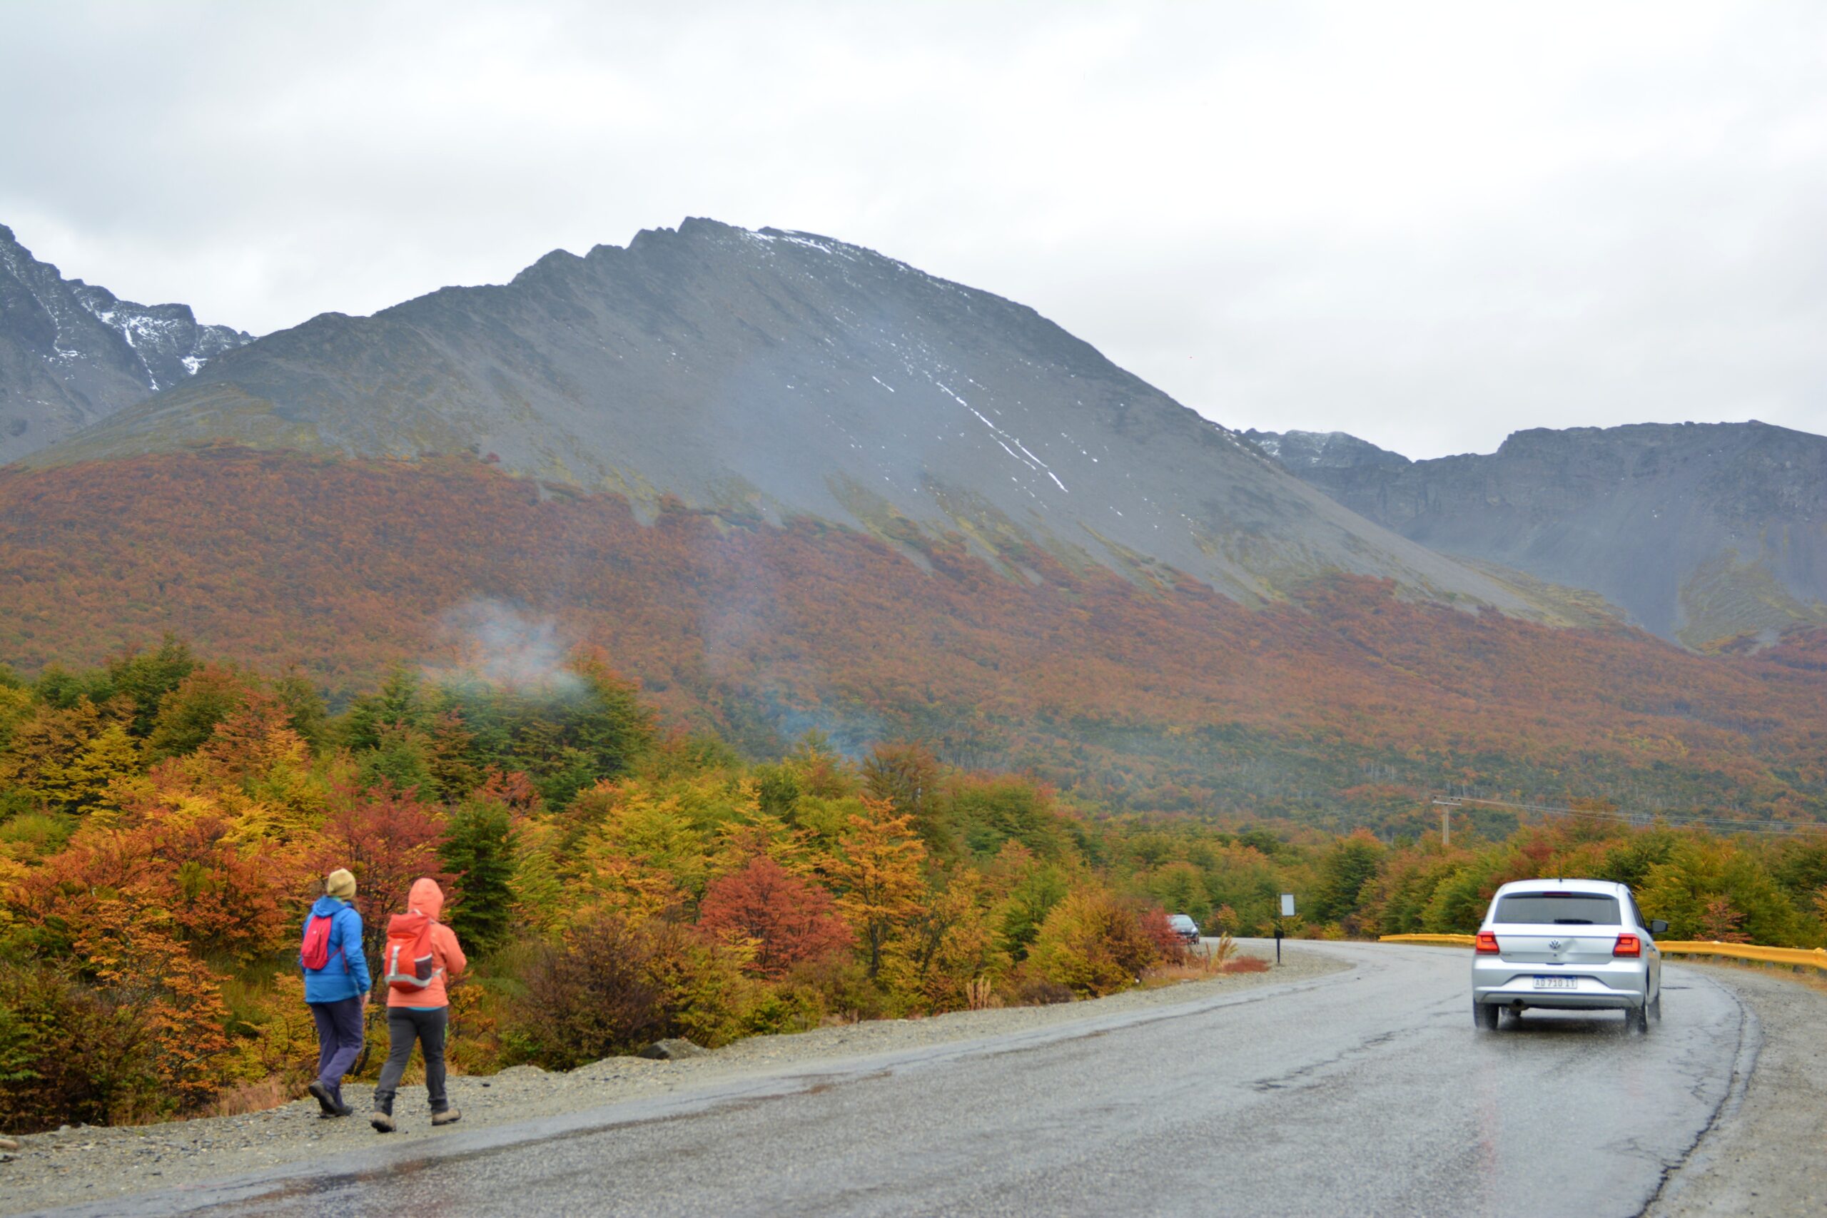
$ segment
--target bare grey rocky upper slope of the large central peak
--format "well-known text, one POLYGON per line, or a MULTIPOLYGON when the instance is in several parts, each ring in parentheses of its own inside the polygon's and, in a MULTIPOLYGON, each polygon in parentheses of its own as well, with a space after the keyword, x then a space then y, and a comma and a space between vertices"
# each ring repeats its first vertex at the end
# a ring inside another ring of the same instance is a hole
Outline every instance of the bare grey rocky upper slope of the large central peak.
POLYGON ((1379 530, 1032 309, 870 250, 691 219, 499 287, 325 314, 33 458, 227 440, 473 453, 552 482, 892 539, 963 531, 1244 599, 1325 572, 1533 612, 1379 530))

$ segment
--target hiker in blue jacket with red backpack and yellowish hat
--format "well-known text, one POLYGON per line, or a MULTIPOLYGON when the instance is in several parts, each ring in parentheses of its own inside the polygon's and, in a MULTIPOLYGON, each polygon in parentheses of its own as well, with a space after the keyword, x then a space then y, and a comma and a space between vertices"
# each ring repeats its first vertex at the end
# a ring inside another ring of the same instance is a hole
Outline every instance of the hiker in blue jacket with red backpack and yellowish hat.
POLYGON ((298 962, 305 970, 305 1003, 318 1023, 318 1077, 307 1088, 320 1116, 349 1116, 342 1076, 362 1052, 362 1008, 367 1004, 367 957, 362 953, 362 915, 354 906, 354 877, 338 867, 305 919, 298 962))

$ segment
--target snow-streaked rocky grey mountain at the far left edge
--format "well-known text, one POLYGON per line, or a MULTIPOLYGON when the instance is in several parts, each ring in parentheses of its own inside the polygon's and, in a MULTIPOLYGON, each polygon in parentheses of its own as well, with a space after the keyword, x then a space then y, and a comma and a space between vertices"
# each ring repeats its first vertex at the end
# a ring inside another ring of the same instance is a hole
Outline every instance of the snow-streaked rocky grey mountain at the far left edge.
POLYGON ((64 279, 0 225, 0 462, 188 380, 248 341, 188 305, 137 305, 64 279))

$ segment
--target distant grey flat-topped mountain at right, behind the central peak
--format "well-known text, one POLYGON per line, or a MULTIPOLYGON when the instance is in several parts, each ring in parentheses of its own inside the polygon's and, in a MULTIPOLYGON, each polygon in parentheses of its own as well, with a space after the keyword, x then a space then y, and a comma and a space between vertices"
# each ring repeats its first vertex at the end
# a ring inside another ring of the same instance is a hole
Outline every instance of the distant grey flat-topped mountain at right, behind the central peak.
POLYGON ((1535 429, 1491 455, 1288 467, 1425 546, 1589 588, 1688 646, 1827 621, 1823 436, 1759 422, 1535 429))

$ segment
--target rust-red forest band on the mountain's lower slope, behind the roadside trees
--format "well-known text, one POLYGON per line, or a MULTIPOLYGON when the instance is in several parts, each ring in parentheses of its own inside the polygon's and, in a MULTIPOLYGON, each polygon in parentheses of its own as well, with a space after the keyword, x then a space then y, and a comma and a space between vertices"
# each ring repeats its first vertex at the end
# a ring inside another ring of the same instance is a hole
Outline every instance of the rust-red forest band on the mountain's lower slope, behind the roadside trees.
MULTIPOLYGON (((102 663, 175 632, 298 665, 334 705, 475 646, 471 617, 599 646, 672 725, 773 756, 921 740, 1124 811, 1407 825, 1431 791, 1641 813, 1827 813, 1827 643, 1705 657, 1306 581, 1248 608, 1005 541, 758 519, 473 460, 203 449, 0 471, 0 657, 102 663)), ((1407 825, 1420 829, 1420 822, 1407 825)), ((1493 825, 1502 827, 1502 825, 1493 825)))

